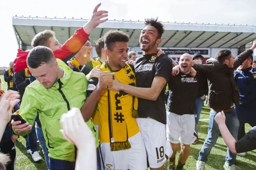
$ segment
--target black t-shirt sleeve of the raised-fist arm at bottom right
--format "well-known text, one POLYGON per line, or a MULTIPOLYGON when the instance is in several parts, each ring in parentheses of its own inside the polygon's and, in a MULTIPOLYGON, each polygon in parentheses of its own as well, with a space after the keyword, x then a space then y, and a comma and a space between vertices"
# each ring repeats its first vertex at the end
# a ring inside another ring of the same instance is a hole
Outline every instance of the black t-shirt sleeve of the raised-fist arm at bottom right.
POLYGON ((236 143, 237 153, 248 152, 254 149, 256 149, 256 126, 236 143))

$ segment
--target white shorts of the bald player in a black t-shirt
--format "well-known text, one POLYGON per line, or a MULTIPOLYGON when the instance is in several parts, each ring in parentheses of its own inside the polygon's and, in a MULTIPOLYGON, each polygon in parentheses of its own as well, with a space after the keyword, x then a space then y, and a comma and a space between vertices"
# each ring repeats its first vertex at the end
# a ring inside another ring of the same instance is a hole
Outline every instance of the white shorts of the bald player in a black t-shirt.
POLYGON ((177 115, 170 111, 166 111, 167 141, 170 143, 181 143, 185 145, 192 144, 194 129, 195 129, 195 115, 177 115))

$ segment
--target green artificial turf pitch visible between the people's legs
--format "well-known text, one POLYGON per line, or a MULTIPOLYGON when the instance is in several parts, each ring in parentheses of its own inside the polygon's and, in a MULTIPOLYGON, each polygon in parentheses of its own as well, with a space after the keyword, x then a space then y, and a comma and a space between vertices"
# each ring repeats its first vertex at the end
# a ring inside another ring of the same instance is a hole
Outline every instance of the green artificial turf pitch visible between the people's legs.
MULTIPOLYGON (((202 113, 200 115, 200 119, 208 119, 209 118, 209 108, 203 107, 202 113)), ((246 131, 250 129, 249 125, 246 125, 246 131)), ((207 136, 208 131, 208 121, 199 121, 198 123, 198 131, 200 141, 196 145, 191 145, 190 156, 184 166, 184 170, 195 170, 196 169, 196 161, 198 158, 198 152, 200 151, 204 139, 207 136)), ((17 160, 16 160, 16 170, 46 170, 46 165, 44 160, 39 162, 33 162, 30 154, 26 153, 25 148, 25 139, 20 137, 16 142, 16 150, 17 150, 17 160)), ((40 148, 40 147, 38 147, 40 148)), ((179 152, 179 151, 178 151, 179 152)), ((40 155, 43 157, 42 151, 40 155)), ((206 170, 222 170, 223 164, 225 162, 226 157, 226 145, 222 140, 222 137, 219 137, 215 147, 212 149, 208 162, 206 164, 206 170)), ((256 170, 256 151, 247 152, 246 156, 237 156, 236 157, 236 166, 237 170, 256 170)), ((176 155, 176 162, 178 161, 178 154, 176 155)), ((165 170, 167 170, 167 164, 165 164, 165 170)), ((86 168, 84 168, 86 169, 86 168)))

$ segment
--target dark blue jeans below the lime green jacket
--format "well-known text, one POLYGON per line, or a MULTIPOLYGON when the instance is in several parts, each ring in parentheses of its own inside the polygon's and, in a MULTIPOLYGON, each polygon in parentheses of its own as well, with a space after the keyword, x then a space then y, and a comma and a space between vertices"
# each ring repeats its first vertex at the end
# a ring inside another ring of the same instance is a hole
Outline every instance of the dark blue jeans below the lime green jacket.
POLYGON ((50 170, 74 170, 76 162, 70 162, 67 160, 49 159, 50 170))

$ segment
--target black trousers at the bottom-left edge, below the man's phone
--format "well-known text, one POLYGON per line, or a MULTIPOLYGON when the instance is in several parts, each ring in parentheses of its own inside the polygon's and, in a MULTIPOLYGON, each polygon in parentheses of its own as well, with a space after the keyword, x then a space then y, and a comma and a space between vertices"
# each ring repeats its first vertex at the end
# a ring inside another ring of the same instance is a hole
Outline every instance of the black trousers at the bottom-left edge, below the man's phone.
POLYGON ((12 141, 2 143, 1 149, 2 153, 8 154, 11 159, 11 161, 6 165, 6 170, 14 170, 16 161, 16 149, 14 143, 12 143, 12 141))

